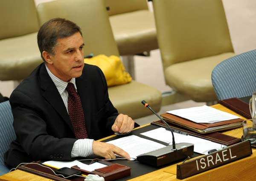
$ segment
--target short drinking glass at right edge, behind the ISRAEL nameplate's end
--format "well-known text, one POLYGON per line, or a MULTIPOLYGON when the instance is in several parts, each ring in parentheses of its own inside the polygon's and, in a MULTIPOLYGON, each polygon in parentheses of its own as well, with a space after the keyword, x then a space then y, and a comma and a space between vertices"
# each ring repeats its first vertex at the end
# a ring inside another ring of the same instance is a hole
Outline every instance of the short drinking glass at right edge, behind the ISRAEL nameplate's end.
POLYGON ((251 144, 256 143, 256 119, 247 119, 243 121, 244 140, 250 140, 251 144))

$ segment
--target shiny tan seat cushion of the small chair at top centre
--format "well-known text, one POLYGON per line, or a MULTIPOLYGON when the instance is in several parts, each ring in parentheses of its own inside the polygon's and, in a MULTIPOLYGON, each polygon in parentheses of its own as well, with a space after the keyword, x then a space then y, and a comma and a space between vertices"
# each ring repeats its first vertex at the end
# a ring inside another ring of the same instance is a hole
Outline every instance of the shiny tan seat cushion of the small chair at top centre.
POLYGON ((134 55, 158 48, 154 14, 148 10, 109 17, 120 55, 134 55))

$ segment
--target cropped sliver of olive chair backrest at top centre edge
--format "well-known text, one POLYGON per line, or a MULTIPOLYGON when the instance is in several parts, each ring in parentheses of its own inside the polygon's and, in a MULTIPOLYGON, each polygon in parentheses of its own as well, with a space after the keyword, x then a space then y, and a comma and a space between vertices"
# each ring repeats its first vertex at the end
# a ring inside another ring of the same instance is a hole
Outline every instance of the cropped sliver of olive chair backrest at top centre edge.
POLYGON ((105 0, 105 6, 109 7, 110 16, 148 9, 147 0, 105 0))

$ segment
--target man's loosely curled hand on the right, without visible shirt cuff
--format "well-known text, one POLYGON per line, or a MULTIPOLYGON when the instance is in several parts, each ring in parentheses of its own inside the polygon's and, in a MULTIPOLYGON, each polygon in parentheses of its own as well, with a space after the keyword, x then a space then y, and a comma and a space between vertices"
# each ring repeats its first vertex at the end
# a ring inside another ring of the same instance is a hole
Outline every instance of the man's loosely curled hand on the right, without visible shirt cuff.
POLYGON ((119 114, 112 126, 114 132, 126 133, 134 129, 134 121, 128 115, 119 114))

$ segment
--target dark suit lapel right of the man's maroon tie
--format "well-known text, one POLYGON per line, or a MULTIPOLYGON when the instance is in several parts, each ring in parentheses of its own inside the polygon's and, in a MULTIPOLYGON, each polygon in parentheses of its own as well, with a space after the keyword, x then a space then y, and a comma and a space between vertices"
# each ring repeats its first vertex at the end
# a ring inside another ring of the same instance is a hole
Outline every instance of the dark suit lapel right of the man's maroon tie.
MULTIPOLYGON (((84 73, 84 72, 83 72, 84 73)), ((77 92, 80 96, 82 107, 84 110, 84 120, 87 127, 87 133, 88 135, 91 135, 91 106, 90 106, 90 87, 88 85, 88 81, 86 78, 84 78, 84 74, 81 75, 79 78, 76 78, 76 87, 77 92)))

